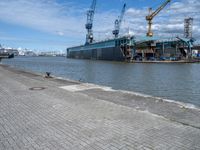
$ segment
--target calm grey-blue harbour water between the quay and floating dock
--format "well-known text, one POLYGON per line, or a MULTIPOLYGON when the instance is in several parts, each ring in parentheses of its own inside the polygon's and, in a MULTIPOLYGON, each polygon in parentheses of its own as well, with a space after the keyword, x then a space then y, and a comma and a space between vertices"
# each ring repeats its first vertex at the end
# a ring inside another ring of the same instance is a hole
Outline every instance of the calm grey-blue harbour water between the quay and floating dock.
POLYGON ((200 106, 200 64, 131 64, 64 57, 15 57, 2 63, 200 106))

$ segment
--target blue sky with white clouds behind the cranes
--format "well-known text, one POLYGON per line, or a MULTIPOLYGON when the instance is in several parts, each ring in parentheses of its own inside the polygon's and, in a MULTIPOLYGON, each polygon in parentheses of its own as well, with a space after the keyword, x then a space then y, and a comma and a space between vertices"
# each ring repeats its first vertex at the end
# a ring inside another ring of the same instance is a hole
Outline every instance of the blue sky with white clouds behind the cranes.
MULTIPOLYGON (((0 44, 35 50, 65 50, 85 42, 86 11, 92 0, 0 0, 0 44)), ((148 7, 165 0, 97 0, 94 38, 112 37, 114 20, 124 3, 121 34, 146 35, 148 7)), ((193 36, 200 39, 200 0, 171 0, 153 20, 156 37, 183 36, 184 18, 193 17, 193 36)), ((199 42, 199 40, 197 40, 199 42)))

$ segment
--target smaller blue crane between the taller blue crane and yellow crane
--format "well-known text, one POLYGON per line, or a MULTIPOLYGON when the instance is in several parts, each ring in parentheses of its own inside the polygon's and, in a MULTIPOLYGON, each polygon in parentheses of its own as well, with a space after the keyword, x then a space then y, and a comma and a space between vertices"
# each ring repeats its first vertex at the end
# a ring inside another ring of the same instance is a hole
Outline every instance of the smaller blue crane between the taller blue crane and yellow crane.
POLYGON ((126 4, 124 4, 124 6, 122 8, 120 17, 115 20, 115 29, 112 32, 113 35, 115 36, 115 38, 117 38, 118 35, 119 35, 119 31, 120 31, 120 27, 121 27, 121 22, 122 22, 123 17, 124 17, 125 9, 126 9, 126 4))

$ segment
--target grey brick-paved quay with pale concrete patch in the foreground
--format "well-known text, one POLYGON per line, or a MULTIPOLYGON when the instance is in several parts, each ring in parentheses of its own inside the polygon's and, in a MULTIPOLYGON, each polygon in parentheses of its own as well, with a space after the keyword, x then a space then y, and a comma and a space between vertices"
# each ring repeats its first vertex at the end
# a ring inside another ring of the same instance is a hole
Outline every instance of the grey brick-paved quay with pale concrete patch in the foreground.
POLYGON ((199 150, 200 109, 0 65, 0 149, 199 150))

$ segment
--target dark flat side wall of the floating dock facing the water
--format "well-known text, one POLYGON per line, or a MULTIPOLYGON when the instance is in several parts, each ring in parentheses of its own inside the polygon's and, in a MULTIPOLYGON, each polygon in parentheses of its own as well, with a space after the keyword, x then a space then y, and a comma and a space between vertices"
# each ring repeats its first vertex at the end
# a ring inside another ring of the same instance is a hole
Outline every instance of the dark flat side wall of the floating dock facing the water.
POLYGON ((125 57, 119 47, 98 48, 80 51, 68 51, 68 58, 124 61, 125 57))

